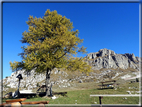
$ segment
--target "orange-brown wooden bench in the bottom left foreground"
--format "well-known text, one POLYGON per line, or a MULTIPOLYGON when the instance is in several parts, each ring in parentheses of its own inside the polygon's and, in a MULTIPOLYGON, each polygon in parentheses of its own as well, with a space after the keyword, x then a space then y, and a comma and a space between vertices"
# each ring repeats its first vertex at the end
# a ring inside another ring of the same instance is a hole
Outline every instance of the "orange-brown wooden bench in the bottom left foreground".
POLYGON ((39 107, 40 106, 43 106, 45 107, 44 104, 48 104, 49 101, 30 101, 30 102, 22 102, 22 101, 25 101, 26 98, 20 98, 20 99, 14 99, 14 100, 6 100, 6 103, 3 103, 3 104, 0 104, 0 107, 7 107, 7 106, 10 106, 10 107, 15 107, 15 106, 18 106, 18 107, 21 107, 22 105, 31 105, 31 104, 39 104, 39 107))

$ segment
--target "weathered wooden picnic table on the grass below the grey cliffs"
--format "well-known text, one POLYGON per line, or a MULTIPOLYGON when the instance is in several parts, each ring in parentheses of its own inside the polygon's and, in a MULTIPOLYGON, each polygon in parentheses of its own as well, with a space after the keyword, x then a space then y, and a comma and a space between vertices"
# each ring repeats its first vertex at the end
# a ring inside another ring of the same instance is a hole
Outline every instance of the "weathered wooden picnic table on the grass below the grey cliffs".
POLYGON ((113 89, 114 86, 118 86, 119 84, 116 84, 116 80, 111 80, 111 81, 105 81, 105 82, 100 82, 101 85, 98 85, 100 88, 99 89, 113 89))

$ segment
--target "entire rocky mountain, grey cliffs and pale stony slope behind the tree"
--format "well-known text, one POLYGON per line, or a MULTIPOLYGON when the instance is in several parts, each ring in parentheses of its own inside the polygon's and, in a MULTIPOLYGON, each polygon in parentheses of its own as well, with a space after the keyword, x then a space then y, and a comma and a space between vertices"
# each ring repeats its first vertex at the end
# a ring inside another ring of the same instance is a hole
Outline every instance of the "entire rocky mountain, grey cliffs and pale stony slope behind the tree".
MULTIPOLYGON (((51 74, 51 83, 58 87, 73 87, 75 82, 99 82, 107 79, 138 78, 140 76, 139 64, 141 60, 134 54, 116 54, 109 49, 100 49, 98 52, 89 53, 85 58, 85 61, 93 69, 89 76, 82 73, 70 73, 54 69, 51 74)), ((18 87, 16 76, 19 73, 23 76, 23 80, 20 83, 22 89, 34 89, 39 85, 45 84, 44 73, 37 74, 33 69, 30 75, 27 75, 25 70, 20 70, 3 79, 3 91, 18 87)))

